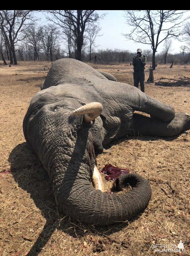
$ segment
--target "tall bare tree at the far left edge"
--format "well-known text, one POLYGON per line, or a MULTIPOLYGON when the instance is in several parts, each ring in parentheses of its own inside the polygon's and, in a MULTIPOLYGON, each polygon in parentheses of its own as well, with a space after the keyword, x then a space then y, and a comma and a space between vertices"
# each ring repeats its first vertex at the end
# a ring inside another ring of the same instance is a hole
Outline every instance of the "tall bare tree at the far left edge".
POLYGON ((9 49, 10 64, 17 65, 15 44, 24 39, 21 32, 34 21, 34 10, 0 10, 0 29, 9 49))

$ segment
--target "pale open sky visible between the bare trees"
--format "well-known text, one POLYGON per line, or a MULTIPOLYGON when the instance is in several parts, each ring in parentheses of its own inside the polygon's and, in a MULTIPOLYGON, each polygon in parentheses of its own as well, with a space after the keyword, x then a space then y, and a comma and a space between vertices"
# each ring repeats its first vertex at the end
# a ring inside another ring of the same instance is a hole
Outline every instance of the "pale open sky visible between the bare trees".
MULTIPOLYGON (((121 49, 128 50, 129 52, 136 52, 137 48, 151 49, 151 46, 148 44, 137 44, 132 40, 126 40, 122 33, 127 33, 130 31, 130 27, 126 24, 126 19, 124 17, 124 10, 96 10, 99 15, 106 13, 104 19, 99 21, 100 27, 102 30, 100 34, 102 36, 96 37, 96 49, 121 49)), ((50 23, 45 20, 45 16, 42 13, 38 14, 41 17, 41 23, 46 24, 50 23)), ((184 42, 179 42, 178 40, 172 39, 172 54, 179 53, 180 46, 185 45, 184 42)), ((64 46, 63 46, 64 47, 64 46)), ((163 44, 157 49, 157 52, 161 52, 163 44)))

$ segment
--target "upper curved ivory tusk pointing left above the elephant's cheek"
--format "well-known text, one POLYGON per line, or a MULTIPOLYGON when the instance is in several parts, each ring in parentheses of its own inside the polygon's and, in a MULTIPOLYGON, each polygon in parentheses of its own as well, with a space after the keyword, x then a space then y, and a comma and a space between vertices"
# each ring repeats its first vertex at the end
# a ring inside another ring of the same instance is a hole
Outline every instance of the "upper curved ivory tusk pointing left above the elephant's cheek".
POLYGON ((73 115, 84 115, 84 122, 91 122, 102 113, 103 107, 99 102, 91 102, 73 111, 73 115))

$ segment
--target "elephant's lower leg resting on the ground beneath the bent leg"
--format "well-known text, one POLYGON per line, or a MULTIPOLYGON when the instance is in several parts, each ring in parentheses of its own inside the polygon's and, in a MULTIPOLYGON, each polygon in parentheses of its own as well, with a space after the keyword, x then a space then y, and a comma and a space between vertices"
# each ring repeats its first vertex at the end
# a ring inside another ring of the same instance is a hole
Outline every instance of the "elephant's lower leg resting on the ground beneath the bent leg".
POLYGON ((163 122, 141 114, 134 114, 131 126, 133 135, 172 137, 181 131, 190 129, 190 116, 177 112, 171 121, 163 122))

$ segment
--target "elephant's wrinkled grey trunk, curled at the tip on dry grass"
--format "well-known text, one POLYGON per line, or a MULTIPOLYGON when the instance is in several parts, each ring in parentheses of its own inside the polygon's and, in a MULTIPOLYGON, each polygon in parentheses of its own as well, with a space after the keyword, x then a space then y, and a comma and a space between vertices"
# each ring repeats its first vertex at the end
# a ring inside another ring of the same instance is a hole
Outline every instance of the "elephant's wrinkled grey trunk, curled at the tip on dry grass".
POLYGON ((41 158, 60 210, 74 220, 101 226, 126 221, 144 210, 151 198, 151 187, 137 174, 125 174, 115 180, 115 190, 132 187, 126 193, 110 195, 92 186, 95 155, 91 134, 86 139, 81 142, 77 137, 69 157, 60 152, 65 152, 66 148, 58 146, 51 151, 48 163, 41 158))

